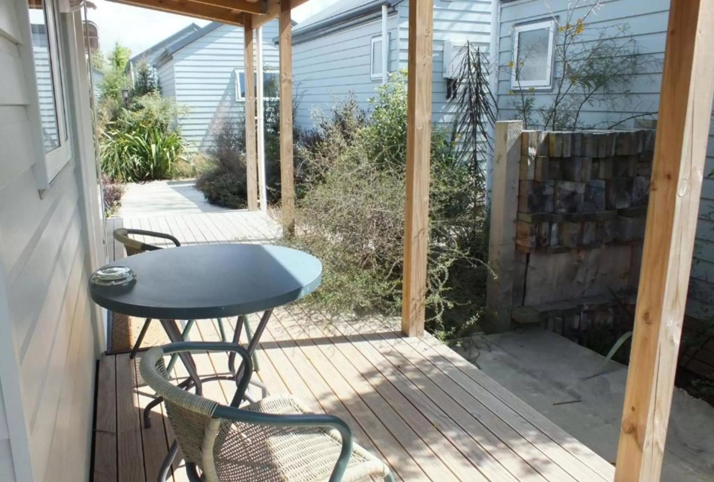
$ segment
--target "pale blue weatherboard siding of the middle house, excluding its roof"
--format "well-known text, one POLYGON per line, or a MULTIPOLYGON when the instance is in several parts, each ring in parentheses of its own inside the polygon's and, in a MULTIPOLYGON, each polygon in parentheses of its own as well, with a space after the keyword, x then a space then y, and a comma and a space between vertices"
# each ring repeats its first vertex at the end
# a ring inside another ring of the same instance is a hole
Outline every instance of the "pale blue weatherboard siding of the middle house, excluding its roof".
MULTIPOLYGON (((443 79, 443 43, 471 41, 488 51, 491 39, 491 0, 434 0, 433 2, 433 121, 448 123, 446 81, 443 79)), ((408 0, 399 2, 388 17, 389 69, 407 68, 408 0)), ((381 79, 370 77, 373 36, 381 35, 381 19, 318 36, 300 43, 293 39, 293 89, 299 104, 295 122, 313 126, 312 109, 328 113, 336 101, 352 93, 359 105, 369 108, 381 79)))

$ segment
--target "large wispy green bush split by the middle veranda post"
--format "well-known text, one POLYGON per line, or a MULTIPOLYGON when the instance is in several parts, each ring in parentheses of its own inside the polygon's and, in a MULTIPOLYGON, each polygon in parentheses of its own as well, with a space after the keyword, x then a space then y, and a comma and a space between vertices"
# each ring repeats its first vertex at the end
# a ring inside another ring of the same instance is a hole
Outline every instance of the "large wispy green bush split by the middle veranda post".
MULTIPOLYGON (((401 306, 406 185, 406 83, 393 76, 371 99, 318 115, 301 157, 298 232, 288 242, 318 256, 323 283, 310 299, 331 311, 397 313, 401 306)), ((486 218, 473 174, 446 132, 433 127, 428 246, 428 326, 442 336, 473 329, 483 311, 486 218)), ((481 196, 483 199, 483 196, 481 196)))

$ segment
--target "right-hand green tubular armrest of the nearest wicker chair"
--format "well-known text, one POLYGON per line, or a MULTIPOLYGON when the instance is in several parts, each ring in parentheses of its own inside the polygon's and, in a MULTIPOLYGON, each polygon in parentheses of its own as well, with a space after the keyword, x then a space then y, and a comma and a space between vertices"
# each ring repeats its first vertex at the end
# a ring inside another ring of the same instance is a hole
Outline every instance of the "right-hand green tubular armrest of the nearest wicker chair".
POLYGON ((352 454, 352 431, 341 418, 324 413, 304 413, 301 415, 276 415, 243 410, 226 405, 218 405, 213 411, 214 418, 224 418, 236 422, 252 423, 276 427, 330 427, 342 437, 342 448, 333 468, 329 482, 341 481, 352 454))

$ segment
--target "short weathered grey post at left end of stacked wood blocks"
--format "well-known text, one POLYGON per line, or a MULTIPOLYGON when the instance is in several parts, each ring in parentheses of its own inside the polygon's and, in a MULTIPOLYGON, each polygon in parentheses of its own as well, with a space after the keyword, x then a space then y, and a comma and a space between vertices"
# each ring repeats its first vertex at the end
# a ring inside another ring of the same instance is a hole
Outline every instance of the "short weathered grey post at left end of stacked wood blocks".
POLYGON ((522 131, 522 121, 496 122, 491 183, 491 228, 488 231, 488 266, 491 266, 493 272, 489 274, 486 286, 488 313, 486 325, 483 327, 491 333, 511 328, 522 131))

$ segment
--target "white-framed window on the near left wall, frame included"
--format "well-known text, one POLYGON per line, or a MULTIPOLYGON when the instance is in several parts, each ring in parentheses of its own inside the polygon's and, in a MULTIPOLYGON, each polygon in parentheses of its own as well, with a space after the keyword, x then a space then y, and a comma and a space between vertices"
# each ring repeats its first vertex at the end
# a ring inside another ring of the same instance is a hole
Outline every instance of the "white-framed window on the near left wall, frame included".
POLYGON ((32 54, 47 184, 71 156, 59 12, 54 0, 29 0, 32 54))

